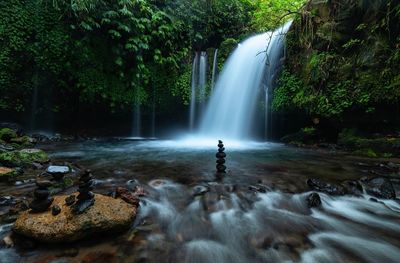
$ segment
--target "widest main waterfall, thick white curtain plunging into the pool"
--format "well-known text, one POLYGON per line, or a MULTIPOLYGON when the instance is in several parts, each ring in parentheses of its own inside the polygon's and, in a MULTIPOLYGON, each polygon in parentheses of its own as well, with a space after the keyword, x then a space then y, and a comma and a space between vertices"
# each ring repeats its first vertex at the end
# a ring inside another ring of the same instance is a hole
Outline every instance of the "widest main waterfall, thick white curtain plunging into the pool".
MULTIPOLYGON (((282 54, 283 35, 291 23, 276 31, 256 35, 238 45, 228 58, 215 85, 199 133, 221 139, 251 139, 253 117, 259 99, 264 74, 278 64, 282 54), (266 51, 266 52, 265 52, 266 51)), ((272 72, 274 73, 274 72, 272 72)), ((266 79, 273 79, 269 76, 266 79)), ((266 108, 269 106, 266 105, 266 108)))

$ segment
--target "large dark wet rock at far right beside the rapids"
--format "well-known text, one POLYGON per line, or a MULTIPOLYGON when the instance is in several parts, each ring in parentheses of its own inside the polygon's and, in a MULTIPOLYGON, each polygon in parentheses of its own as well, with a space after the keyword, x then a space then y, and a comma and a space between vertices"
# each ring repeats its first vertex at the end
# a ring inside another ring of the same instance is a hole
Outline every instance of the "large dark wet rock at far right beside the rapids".
POLYGON ((396 192, 389 179, 381 177, 373 178, 369 180, 364 180, 362 182, 362 185, 369 195, 383 199, 396 198, 396 192))

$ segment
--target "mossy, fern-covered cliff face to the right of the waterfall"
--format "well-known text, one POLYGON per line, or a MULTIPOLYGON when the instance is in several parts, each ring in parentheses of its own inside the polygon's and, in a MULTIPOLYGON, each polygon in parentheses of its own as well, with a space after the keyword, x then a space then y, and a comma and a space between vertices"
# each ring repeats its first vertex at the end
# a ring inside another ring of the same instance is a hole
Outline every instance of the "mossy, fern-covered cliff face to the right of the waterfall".
POLYGON ((399 0, 311 0, 287 35, 273 108, 341 127, 399 125, 399 25, 399 0))

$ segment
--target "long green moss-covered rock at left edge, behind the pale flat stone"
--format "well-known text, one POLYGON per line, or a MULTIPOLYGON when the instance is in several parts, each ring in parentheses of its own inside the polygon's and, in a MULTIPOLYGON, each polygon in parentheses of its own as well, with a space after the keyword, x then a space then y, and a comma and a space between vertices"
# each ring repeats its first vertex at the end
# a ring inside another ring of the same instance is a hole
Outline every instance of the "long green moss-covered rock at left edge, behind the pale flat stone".
POLYGON ((0 153, 0 163, 9 166, 29 166, 33 162, 47 163, 49 156, 40 149, 23 149, 20 151, 0 153))

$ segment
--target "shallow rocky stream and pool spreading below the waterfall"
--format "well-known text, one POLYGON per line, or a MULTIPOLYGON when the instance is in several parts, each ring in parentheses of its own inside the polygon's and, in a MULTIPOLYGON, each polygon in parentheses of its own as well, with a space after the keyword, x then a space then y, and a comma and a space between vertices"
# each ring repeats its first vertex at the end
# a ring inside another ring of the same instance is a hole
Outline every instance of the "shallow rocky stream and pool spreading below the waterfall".
POLYGON ((227 173, 216 181, 216 145, 121 139, 36 145, 49 162, 21 166, 23 175, 0 183, 1 258, 396 262, 400 257, 398 159, 268 143, 225 142, 225 147, 227 173), (50 188, 56 200, 64 200, 76 192, 78 175, 86 168, 94 175, 96 196, 140 204, 127 230, 51 245, 12 232, 18 216, 28 216, 35 179, 65 171, 50 188))

